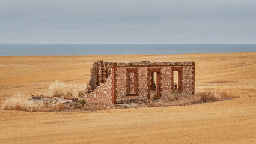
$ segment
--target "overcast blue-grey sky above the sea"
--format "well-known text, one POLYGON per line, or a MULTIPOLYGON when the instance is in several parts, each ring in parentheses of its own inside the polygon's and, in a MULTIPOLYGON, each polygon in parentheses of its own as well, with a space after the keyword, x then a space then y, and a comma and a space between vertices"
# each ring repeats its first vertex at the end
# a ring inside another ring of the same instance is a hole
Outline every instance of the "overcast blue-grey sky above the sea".
POLYGON ((0 0, 0 44, 256 44, 255 0, 0 0))

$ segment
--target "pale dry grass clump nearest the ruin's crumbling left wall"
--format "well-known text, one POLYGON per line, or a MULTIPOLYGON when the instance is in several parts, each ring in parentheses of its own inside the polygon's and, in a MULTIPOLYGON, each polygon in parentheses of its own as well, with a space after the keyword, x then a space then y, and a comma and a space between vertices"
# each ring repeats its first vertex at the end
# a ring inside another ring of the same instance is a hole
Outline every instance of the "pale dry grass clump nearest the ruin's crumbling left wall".
POLYGON ((45 92, 48 97, 78 98, 84 95, 85 88, 81 85, 64 83, 58 80, 52 82, 45 92))

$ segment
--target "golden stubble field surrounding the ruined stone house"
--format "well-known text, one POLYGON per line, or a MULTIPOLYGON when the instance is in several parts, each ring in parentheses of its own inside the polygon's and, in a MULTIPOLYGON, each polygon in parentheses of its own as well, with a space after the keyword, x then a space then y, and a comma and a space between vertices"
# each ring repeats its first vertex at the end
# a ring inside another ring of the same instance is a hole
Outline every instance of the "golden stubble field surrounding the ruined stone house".
POLYGON ((0 143, 256 143, 256 53, 107 56, 1 56, 0 106, 17 92, 37 94, 62 80, 86 86, 100 59, 195 61, 195 92, 233 100, 99 112, 0 110, 0 143))

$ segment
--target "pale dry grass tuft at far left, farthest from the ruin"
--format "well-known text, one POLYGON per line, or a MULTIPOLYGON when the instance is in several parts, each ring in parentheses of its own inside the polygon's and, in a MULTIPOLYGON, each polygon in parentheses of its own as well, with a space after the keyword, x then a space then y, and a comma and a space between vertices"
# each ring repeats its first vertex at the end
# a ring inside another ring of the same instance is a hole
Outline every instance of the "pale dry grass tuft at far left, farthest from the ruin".
POLYGON ((29 101, 31 98, 25 94, 16 94, 13 97, 4 100, 2 105, 3 110, 23 110, 27 112, 41 111, 43 109, 43 103, 40 101, 29 101))

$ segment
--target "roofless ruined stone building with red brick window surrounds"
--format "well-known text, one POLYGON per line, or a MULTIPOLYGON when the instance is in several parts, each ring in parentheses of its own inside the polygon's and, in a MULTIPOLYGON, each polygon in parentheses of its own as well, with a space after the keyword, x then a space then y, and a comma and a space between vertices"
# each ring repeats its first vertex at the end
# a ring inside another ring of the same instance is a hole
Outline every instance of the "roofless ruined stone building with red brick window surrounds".
POLYGON ((91 67, 86 92, 87 103, 102 104, 166 98, 177 93, 194 95, 195 62, 98 61, 91 67), (175 71, 177 83, 174 83, 175 71))

